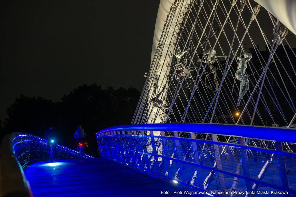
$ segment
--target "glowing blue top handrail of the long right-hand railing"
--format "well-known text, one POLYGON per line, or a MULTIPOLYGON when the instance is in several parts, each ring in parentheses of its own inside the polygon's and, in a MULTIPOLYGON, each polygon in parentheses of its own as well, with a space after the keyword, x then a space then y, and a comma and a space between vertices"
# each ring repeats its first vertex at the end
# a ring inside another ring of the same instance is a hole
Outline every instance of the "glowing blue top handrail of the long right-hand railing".
POLYGON ((178 131, 211 133, 296 143, 296 130, 294 129, 209 123, 162 123, 113 126, 97 132, 96 138, 98 139, 99 134, 110 131, 178 131))

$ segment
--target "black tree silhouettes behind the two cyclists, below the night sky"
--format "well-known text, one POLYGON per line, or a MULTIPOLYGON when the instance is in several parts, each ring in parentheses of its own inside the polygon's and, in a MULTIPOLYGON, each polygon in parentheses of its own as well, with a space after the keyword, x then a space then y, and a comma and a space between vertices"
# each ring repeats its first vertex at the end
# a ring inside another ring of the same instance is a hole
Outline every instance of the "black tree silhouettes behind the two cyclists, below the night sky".
POLYGON ((130 124, 139 97, 140 92, 133 87, 102 89, 96 84, 79 86, 64 95, 61 102, 21 95, 7 108, 8 118, 0 134, 17 131, 44 138, 45 129, 52 123, 57 129, 57 143, 75 148, 74 132, 82 125, 87 136, 85 150, 95 155, 95 133, 106 127, 130 124))

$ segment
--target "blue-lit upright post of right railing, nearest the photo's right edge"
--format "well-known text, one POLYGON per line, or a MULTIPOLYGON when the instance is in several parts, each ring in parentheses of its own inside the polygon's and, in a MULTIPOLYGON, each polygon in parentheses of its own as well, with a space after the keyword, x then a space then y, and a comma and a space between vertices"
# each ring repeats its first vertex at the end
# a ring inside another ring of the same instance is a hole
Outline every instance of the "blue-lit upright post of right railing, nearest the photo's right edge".
MULTIPOLYGON (((276 145, 277 151, 283 151, 283 145, 281 141, 276 141, 275 145, 276 145)), ((281 186, 283 188, 289 188, 285 159, 282 155, 277 155, 277 157, 278 157, 279 174, 281 177, 281 186)), ((284 194, 284 196, 290 196, 290 195, 284 194)))

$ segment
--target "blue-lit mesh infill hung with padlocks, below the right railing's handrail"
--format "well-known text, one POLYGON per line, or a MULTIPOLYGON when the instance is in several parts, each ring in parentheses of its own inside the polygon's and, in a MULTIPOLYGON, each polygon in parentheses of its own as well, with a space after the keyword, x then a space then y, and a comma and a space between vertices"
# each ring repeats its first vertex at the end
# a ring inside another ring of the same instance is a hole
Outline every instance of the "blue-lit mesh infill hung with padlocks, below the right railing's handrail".
POLYGON ((262 148, 250 150, 231 143, 161 136, 112 135, 99 137, 97 143, 103 157, 199 191, 228 196, 221 192, 244 192, 249 185, 256 196, 274 191, 289 191, 290 196, 296 196, 294 154, 287 157, 262 148), (285 166, 288 186, 282 183, 281 165, 285 166))

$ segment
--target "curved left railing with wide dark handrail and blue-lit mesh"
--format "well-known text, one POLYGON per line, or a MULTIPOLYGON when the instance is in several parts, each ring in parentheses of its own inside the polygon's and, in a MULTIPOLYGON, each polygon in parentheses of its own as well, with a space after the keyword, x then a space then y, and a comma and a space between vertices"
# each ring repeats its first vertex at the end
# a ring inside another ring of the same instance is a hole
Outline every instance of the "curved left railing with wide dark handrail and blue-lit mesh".
MULTIPOLYGON (((80 158, 79 152, 60 145, 57 145, 56 156, 58 159, 80 158)), ((0 196, 33 197, 23 167, 41 160, 50 160, 45 139, 18 132, 5 136, 0 144, 0 196)))

